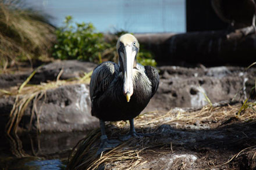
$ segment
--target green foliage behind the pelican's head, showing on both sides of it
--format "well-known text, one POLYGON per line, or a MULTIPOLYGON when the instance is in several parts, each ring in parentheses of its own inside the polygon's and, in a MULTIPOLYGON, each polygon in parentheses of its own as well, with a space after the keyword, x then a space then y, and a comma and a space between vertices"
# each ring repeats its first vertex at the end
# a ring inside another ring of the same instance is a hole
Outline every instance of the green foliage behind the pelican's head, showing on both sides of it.
MULTIPOLYGON (((52 50, 56 59, 78 59, 89 62, 101 63, 105 61, 117 62, 116 41, 126 31, 118 31, 111 35, 108 41, 104 35, 95 32, 91 23, 74 23, 71 16, 67 16, 65 26, 56 30, 57 43, 52 50)), ((156 66, 153 55, 141 45, 137 60, 143 65, 156 66)))

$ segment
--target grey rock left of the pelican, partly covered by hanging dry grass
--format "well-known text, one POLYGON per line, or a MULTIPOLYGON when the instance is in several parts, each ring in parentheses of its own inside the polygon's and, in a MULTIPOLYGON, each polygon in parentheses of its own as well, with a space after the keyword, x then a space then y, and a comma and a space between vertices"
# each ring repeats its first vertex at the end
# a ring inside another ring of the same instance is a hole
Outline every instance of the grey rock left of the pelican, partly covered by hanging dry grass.
MULTIPOLYGON (((0 99, 0 108, 3 108, 1 110, 2 126, 5 126, 9 120, 14 101, 14 97, 0 99)), ((98 126, 98 119, 91 116, 90 110, 89 85, 66 85, 50 89, 43 93, 43 97, 38 102, 30 102, 17 131, 37 131, 38 129, 41 132, 72 132, 93 129, 98 126), (33 115, 30 125, 33 104, 36 104, 36 114, 33 115)))

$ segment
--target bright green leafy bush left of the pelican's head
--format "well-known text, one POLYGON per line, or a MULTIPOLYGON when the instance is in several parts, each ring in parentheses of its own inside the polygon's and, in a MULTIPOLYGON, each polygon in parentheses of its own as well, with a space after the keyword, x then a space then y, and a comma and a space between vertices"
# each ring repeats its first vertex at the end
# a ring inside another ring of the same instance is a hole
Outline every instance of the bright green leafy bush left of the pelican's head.
POLYGON ((52 50, 52 56, 58 59, 78 59, 90 62, 101 61, 101 53, 106 48, 103 34, 94 32, 91 23, 75 23, 67 16, 65 26, 56 30, 57 43, 52 50))

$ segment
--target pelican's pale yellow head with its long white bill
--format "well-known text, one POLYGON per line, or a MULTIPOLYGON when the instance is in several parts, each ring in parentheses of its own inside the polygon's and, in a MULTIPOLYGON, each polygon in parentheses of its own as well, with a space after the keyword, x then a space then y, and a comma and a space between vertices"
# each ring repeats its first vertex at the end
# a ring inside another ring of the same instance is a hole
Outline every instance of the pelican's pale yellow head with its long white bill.
POLYGON ((140 45, 138 40, 131 34, 122 35, 116 44, 119 55, 119 67, 123 71, 123 94, 127 102, 133 95, 133 68, 137 66, 136 55, 140 45))

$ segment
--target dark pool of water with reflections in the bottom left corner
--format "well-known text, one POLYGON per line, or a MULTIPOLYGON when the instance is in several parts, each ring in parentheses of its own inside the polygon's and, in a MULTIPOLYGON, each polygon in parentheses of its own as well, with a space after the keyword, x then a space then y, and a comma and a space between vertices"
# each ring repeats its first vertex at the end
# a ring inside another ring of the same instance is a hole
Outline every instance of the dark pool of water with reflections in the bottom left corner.
POLYGON ((65 169, 70 150, 85 135, 86 132, 2 135, 0 169, 65 169))

